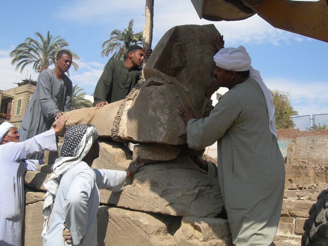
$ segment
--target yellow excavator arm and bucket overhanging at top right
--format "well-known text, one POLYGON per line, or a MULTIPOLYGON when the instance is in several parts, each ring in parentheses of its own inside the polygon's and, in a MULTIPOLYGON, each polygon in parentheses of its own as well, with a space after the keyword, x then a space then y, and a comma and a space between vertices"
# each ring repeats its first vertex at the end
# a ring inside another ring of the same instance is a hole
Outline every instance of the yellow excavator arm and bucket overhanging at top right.
POLYGON ((243 20, 255 13, 272 26, 328 42, 328 0, 191 0, 199 18, 243 20))

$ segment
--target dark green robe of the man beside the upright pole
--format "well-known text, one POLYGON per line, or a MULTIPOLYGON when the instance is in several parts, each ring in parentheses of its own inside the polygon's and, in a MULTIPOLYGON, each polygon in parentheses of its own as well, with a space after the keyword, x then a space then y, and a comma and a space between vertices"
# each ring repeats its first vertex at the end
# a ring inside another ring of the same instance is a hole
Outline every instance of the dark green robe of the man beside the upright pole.
POLYGON ((114 103, 125 99, 141 78, 141 70, 140 68, 129 70, 121 60, 108 62, 94 89, 93 106, 104 101, 114 103))

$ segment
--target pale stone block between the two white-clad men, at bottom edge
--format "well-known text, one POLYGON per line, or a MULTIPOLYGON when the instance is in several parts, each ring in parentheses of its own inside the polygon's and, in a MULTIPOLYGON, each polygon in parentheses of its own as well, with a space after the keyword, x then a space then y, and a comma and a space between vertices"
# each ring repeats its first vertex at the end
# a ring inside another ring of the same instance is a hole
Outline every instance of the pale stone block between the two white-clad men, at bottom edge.
MULTIPOLYGON (((28 192, 29 193, 29 192, 28 192)), ((42 245, 43 201, 26 205, 25 208, 25 246, 42 245)))

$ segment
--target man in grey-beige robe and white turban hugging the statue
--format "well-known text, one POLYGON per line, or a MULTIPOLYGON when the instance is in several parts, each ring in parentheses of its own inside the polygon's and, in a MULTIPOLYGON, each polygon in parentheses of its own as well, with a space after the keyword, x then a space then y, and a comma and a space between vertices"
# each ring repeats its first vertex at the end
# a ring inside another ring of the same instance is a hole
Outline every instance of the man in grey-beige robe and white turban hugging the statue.
POLYGON ((203 160, 198 165, 218 177, 234 245, 274 245, 285 166, 272 96, 243 46, 221 48, 214 62, 215 83, 229 91, 204 119, 179 107, 187 142, 199 150, 217 141, 217 168, 203 160))

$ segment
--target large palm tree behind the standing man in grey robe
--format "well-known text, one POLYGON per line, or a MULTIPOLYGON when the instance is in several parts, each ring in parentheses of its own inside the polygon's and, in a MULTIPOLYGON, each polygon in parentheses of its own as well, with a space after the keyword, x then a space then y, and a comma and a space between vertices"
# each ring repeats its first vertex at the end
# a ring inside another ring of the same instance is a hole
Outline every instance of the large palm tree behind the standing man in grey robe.
MULTIPOLYGON (((10 57, 13 58, 12 65, 16 64, 16 70, 21 68, 21 72, 23 72, 26 65, 32 64, 33 69, 40 73, 52 65, 56 66, 57 53, 62 48, 69 46, 69 43, 65 39, 60 38, 60 36, 52 37, 49 31, 46 37, 39 32, 36 32, 35 35, 40 41, 28 37, 10 53, 10 57)), ((67 48, 65 49, 68 50, 67 48)), ((70 52, 74 60, 80 60, 75 53, 70 52)), ((75 62, 72 65, 75 70, 78 69, 78 65, 75 62)))

